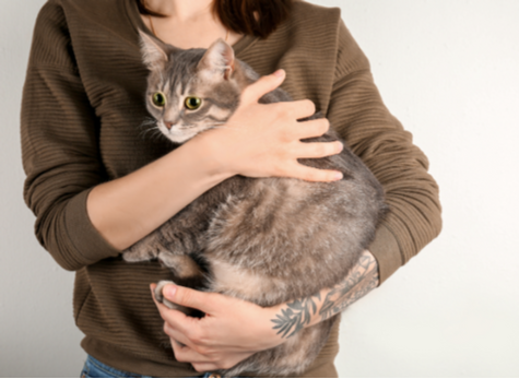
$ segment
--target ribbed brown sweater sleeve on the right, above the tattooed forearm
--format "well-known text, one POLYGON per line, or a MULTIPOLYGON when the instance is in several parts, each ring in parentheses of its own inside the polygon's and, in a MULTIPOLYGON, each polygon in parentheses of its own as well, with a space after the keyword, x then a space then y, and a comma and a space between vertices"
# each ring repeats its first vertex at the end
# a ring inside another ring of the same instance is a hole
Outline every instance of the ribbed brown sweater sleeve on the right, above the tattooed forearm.
POLYGON ((439 234, 438 186, 412 134, 384 105, 369 62, 342 20, 337 35, 335 78, 327 117, 385 188, 389 212, 369 248, 382 283, 439 234))

